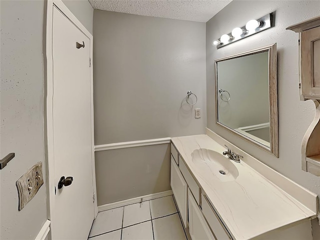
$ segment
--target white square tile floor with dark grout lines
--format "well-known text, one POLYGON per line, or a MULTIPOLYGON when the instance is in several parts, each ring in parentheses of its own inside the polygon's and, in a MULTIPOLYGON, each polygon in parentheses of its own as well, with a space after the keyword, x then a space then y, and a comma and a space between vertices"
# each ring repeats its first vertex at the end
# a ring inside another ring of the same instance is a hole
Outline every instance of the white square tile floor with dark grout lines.
POLYGON ((88 240, 187 240, 173 196, 101 211, 88 240))

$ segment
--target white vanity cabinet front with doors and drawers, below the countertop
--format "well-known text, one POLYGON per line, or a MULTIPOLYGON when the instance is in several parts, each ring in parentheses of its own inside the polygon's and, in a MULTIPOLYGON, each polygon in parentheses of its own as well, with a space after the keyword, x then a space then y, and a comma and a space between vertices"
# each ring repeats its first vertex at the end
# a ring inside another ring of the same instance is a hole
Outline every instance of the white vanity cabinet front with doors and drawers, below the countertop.
POLYGON ((180 215, 184 227, 189 227, 189 233, 192 240, 228 240, 232 239, 223 228, 223 223, 218 216, 214 214, 212 206, 206 201, 201 194, 201 188, 193 179, 191 173, 185 166, 182 157, 171 144, 171 170, 170 170, 171 189, 179 208, 180 215), (175 158, 179 159, 179 166, 175 158), (201 197, 200 197, 201 195, 201 197), (205 207, 202 212, 200 201, 202 199, 202 207, 205 207), (203 205, 204 204, 204 205, 203 205), (214 220, 212 220, 214 219, 214 220), (207 224, 209 223, 209 225, 207 224), (214 237, 216 235, 216 237, 214 237))

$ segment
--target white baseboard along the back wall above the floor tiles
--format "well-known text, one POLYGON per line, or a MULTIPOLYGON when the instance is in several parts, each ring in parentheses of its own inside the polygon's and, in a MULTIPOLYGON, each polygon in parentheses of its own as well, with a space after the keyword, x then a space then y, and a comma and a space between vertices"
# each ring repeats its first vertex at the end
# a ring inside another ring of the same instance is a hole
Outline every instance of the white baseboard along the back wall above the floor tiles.
POLYGON ((172 194, 173 194, 172 190, 167 190, 167 191, 162 191, 162 192, 153 193, 153 194, 149 194, 149 195, 134 197, 134 198, 123 200, 123 201, 108 203, 108 204, 98 206, 98 212, 113 209, 113 208, 120 207, 120 206, 125 206, 125 205, 129 205, 129 204, 137 203, 137 202, 141 201, 141 198, 142 198, 142 201, 147 201, 147 200, 152 200, 154 198, 169 196, 172 194))

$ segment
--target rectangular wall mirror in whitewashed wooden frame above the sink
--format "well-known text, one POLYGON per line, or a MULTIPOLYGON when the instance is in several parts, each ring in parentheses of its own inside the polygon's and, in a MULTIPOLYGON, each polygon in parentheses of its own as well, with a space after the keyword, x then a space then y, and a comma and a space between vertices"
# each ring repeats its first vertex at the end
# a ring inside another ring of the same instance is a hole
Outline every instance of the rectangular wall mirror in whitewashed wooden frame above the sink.
POLYGON ((276 43, 215 60, 216 124, 278 157, 276 43))

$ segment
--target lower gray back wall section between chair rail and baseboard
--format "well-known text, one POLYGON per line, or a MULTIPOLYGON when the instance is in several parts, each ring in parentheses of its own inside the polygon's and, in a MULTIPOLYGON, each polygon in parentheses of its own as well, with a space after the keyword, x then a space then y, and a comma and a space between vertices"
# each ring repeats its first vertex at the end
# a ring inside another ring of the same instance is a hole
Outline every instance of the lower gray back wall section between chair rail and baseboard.
POLYGON ((95 152, 97 204, 170 190, 170 144, 95 152))

